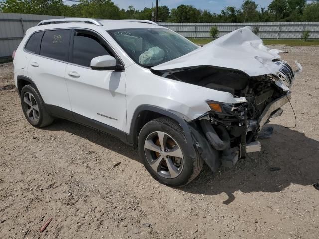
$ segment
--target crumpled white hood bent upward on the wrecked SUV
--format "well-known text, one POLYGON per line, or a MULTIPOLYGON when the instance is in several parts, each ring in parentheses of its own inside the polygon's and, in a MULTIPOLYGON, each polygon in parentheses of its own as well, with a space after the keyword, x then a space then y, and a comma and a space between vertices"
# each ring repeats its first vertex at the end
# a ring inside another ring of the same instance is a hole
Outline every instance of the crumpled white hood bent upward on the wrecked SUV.
POLYGON ((194 66, 215 66, 245 72, 249 76, 276 74, 280 50, 269 49, 251 27, 224 35, 184 56, 152 67, 153 70, 177 70, 194 66))

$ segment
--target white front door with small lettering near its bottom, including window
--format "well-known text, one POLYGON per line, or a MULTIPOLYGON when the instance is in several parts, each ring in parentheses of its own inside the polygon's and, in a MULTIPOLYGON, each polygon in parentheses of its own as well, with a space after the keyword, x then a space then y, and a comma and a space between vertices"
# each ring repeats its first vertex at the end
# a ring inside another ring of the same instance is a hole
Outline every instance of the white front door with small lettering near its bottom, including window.
POLYGON ((125 72, 91 69, 94 57, 114 56, 97 33, 78 29, 72 38, 65 78, 74 117, 82 124, 107 128, 112 134, 117 130, 126 133, 125 72))

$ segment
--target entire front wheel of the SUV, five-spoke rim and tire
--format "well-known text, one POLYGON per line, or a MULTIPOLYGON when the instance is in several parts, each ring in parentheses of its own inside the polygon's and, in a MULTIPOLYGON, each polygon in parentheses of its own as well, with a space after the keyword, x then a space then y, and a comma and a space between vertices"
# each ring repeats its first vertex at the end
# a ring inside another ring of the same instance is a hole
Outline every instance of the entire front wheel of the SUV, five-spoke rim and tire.
POLYGON ((203 160, 196 153, 191 158, 186 153, 185 133, 174 120, 161 117, 154 119, 141 129, 138 138, 140 157, 148 172, 160 183, 183 186, 200 173, 203 160))

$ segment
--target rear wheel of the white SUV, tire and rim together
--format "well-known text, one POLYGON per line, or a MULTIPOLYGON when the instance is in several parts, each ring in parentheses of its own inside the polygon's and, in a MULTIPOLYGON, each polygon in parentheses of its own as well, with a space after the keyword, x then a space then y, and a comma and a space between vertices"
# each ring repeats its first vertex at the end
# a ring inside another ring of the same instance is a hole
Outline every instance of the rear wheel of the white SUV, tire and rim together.
POLYGON ((20 95, 24 116, 32 126, 41 128, 53 122, 53 118, 45 109, 44 102, 34 87, 31 85, 24 86, 20 95))

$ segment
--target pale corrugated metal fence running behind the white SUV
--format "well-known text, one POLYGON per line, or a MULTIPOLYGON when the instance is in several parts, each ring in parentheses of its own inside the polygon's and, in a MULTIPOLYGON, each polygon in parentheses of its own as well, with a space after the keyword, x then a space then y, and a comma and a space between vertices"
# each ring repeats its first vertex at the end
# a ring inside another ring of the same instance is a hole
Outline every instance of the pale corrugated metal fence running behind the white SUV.
MULTIPOLYGON (((0 13, 0 59, 10 58, 21 42, 25 31, 39 21, 63 16, 0 13)), ((304 30, 310 30, 310 39, 319 39, 319 22, 270 23, 160 23, 185 37, 209 37, 212 26, 219 29, 219 37, 244 26, 259 26, 258 35, 269 39, 301 39, 304 30)))

